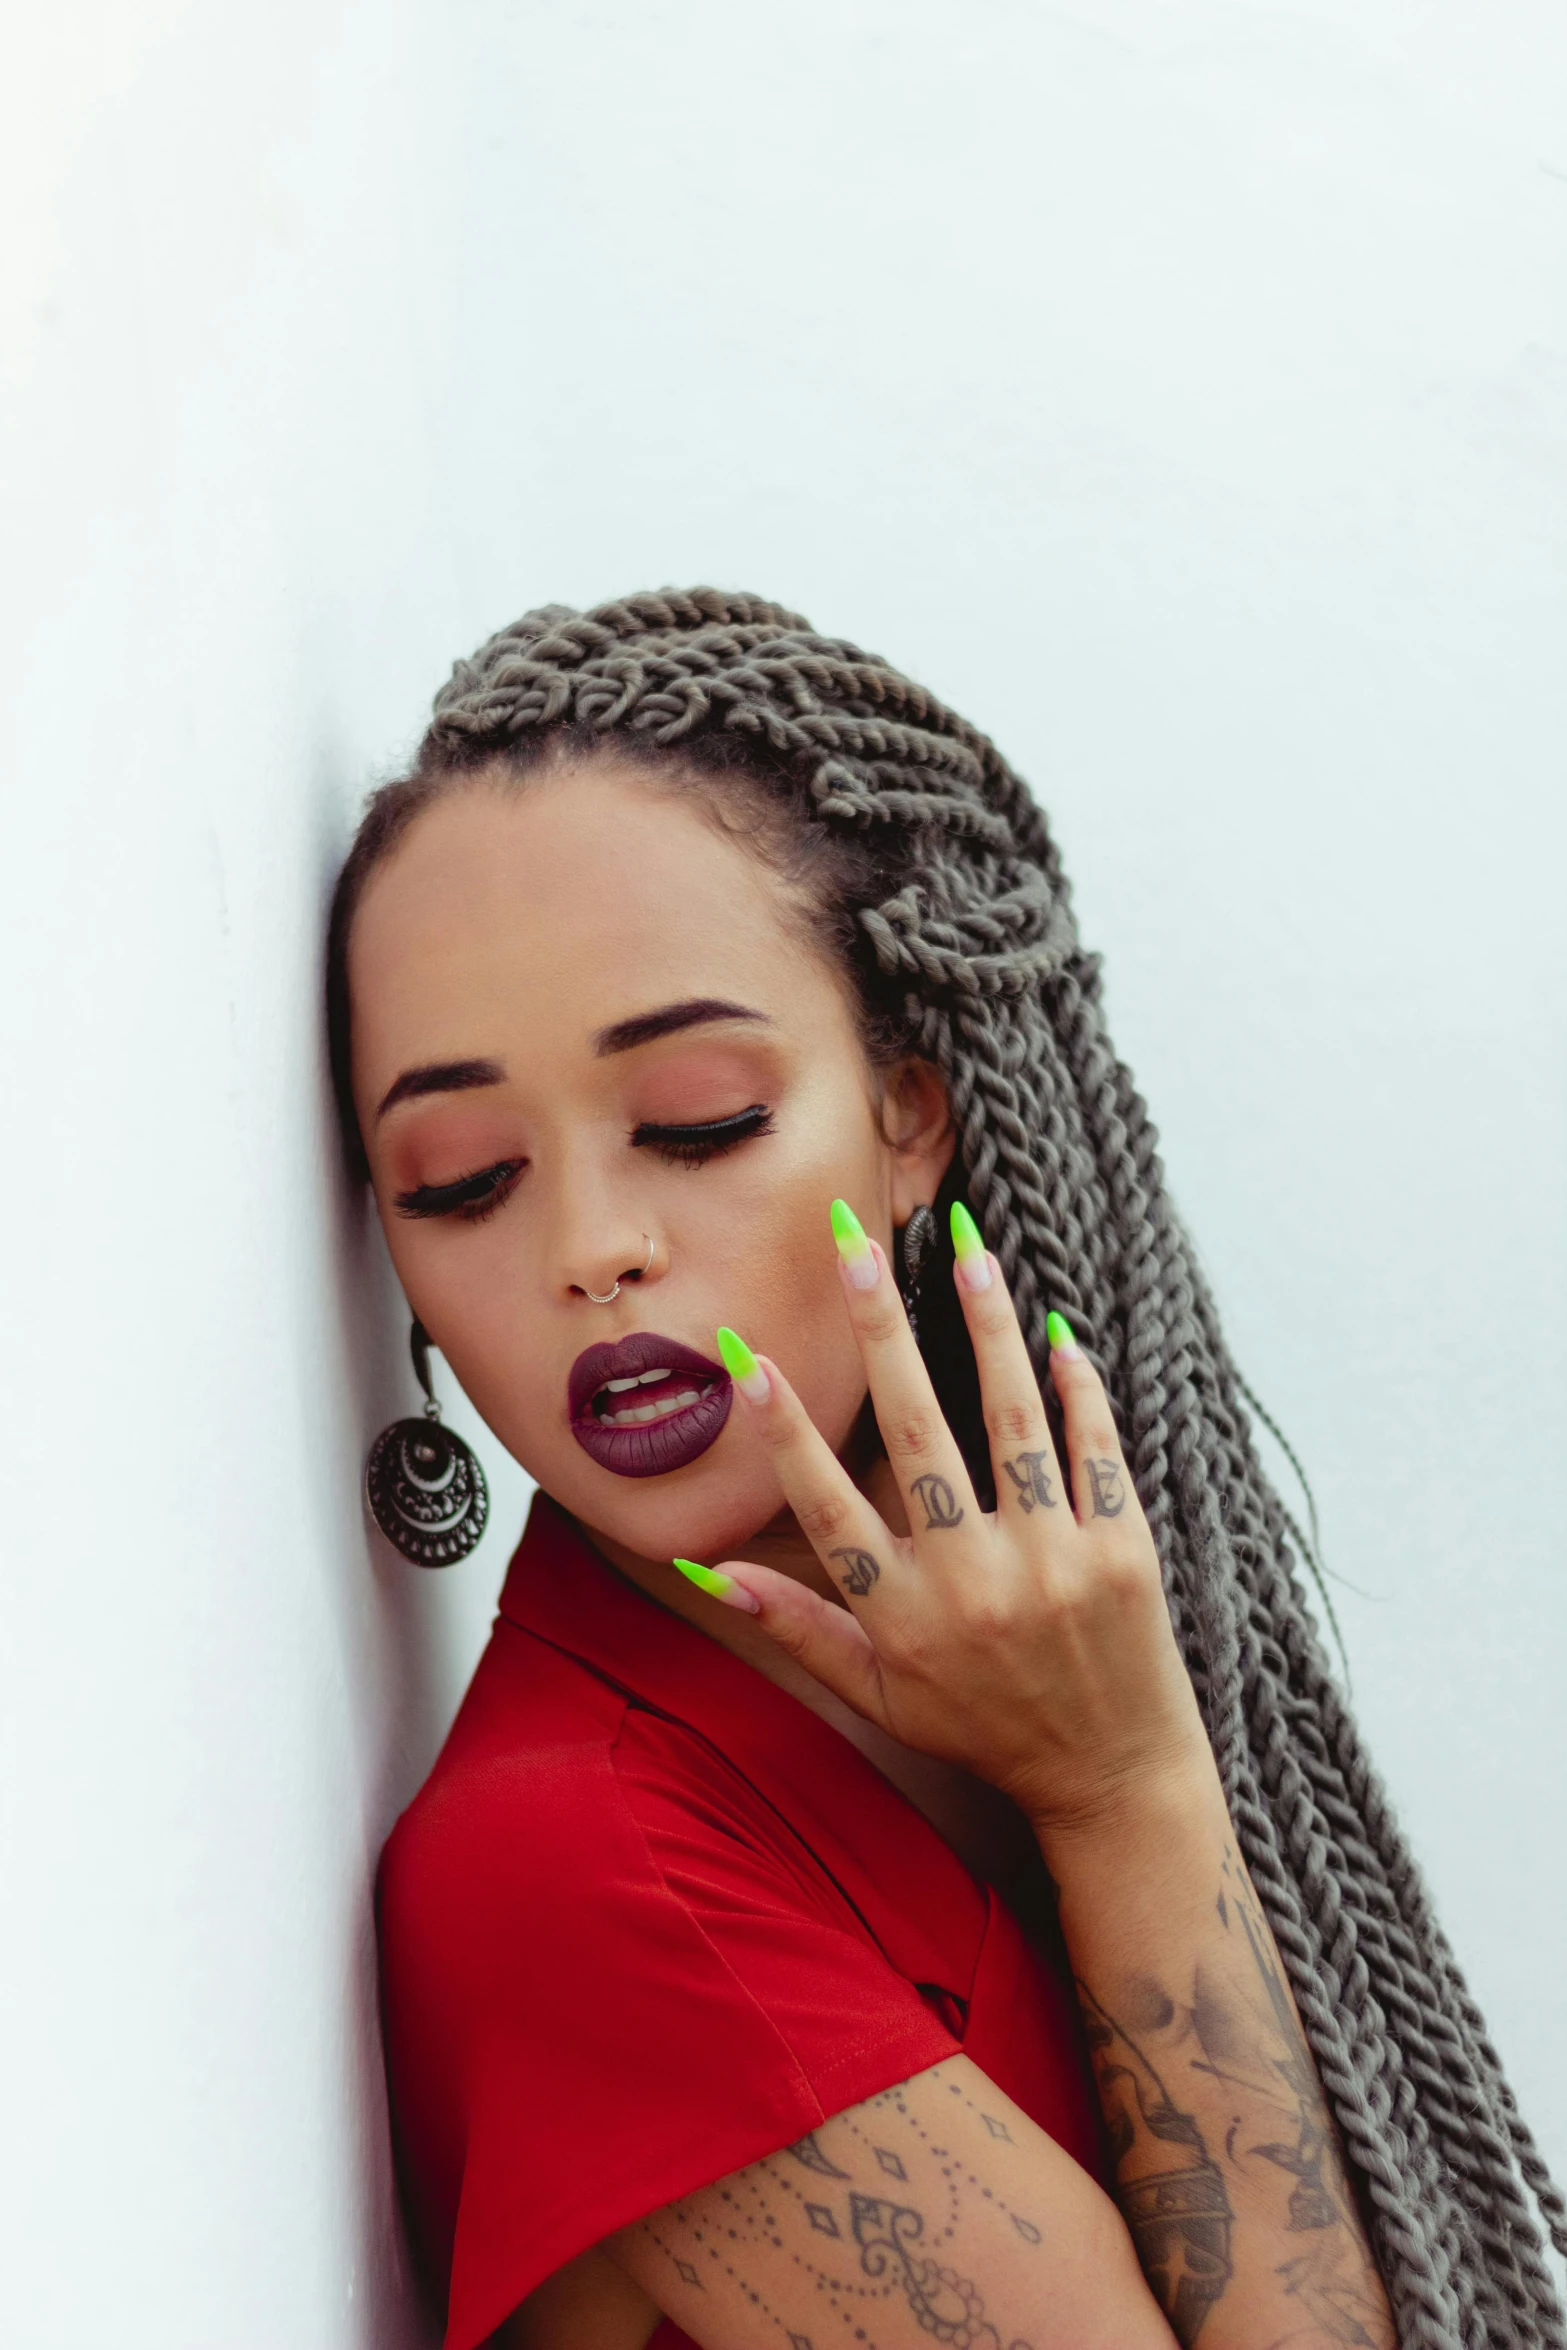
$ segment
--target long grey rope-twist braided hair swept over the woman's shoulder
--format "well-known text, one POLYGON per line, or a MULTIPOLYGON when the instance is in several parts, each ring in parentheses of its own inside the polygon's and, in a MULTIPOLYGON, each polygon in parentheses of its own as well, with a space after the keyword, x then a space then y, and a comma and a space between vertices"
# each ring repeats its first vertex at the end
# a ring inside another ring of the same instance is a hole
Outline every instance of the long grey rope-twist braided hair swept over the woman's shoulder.
MULTIPOLYGON (((1060 1307, 1109 1384, 1400 2343, 1567 2350, 1529 2195, 1558 2251, 1567 2207, 1327 1666, 1297 1577, 1306 1546, 1252 1448, 1247 1391, 1104 1027, 1097 956, 996 747, 886 660, 759 597, 698 588, 529 613, 456 665, 413 771, 371 799, 343 870, 329 949, 343 1102, 364 879, 453 778, 524 773, 561 745, 613 750, 709 799, 738 792, 738 830, 771 808, 759 853, 792 858, 825 902, 867 1036, 940 1067, 956 1182, 1036 1368, 1060 1307)), ((921 1342, 930 1351, 923 1328, 921 1342)))

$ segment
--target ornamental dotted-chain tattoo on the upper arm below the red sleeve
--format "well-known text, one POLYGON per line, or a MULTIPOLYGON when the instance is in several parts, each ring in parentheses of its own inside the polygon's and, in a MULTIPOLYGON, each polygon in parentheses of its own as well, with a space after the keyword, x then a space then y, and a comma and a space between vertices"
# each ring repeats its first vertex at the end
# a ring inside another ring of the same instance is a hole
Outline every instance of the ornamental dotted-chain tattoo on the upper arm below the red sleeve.
MULTIPOLYGON (((973 2106, 940 2068, 933 2068, 928 2080, 942 2082, 951 2096, 973 2106)), ((940 2113, 933 2115, 926 2106, 921 2120, 916 2103, 923 2099, 909 2082, 867 2099, 853 2115, 839 2115, 832 2124, 834 2153, 850 2164, 848 2169, 822 2150, 820 2131, 813 2129, 782 2155, 754 2162, 749 2171, 719 2186, 719 2209, 712 2216, 698 2214, 691 2197, 644 2221, 641 2232, 670 2261, 681 2284, 705 2291, 719 2275, 726 2277, 754 2310, 773 2319, 780 2343, 789 2350, 839 2343, 843 2329, 855 2343, 879 2350, 874 2331, 879 2310, 893 2324, 897 2312, 904 2322, 912 2317, 921 2334, 949 2350, 1029 2350, 1020 2334, 1003 2331, 987 2315, 984 2294, 944 2258, 944 2251, 970 2195, 1003 2211, 1024 2244, 1043 2242, 1043 2230, 1022 2211, 1013 2211, 989 2181, 980 2181, 942 2143, 947 2134, 940 2129, 940 2113), (895 2136, 900 2143, 883 2146, 879 2143, 883 2136, 895 2136), (811 2174, 806 2183, 792 2164, 811 2174), (888 2181, 904 2195, 881 2193, 888 2181), (775 2251, 787 2249, 794 2268, 811 2280, 822 2310, 818 2334, 796 2331, 794 2310, 785 2317, 759 2291, 754 2265, 745 2256, 764 2244, 775 2251)), ((984 2113, 980 2120, 991 2136, 1010 2143, 1006 2122, 984 2113)))

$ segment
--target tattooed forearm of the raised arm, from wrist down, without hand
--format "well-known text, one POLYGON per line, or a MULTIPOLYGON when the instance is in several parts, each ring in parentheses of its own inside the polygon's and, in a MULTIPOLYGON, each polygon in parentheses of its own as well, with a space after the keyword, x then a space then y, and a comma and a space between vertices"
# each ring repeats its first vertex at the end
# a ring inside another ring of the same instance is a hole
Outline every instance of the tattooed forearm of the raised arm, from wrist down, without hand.
POLYGON ((1175 2336, 1327 2350, 1395 2336, 1278 1948, 1217 1774, 1038 1831, 1116 2197, 1175 2336))

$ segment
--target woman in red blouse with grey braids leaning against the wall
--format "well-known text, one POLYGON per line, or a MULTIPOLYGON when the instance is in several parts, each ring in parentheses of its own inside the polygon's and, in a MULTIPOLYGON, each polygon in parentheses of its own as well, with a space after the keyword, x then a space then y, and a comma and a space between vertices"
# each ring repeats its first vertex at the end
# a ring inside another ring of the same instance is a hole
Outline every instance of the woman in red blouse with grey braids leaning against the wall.
POLYGON ((533 613, 371 801, 329 992, 540 1485, 381 1882, 449 2350, 1560 2345, 996 750, 752 597, 533 613))

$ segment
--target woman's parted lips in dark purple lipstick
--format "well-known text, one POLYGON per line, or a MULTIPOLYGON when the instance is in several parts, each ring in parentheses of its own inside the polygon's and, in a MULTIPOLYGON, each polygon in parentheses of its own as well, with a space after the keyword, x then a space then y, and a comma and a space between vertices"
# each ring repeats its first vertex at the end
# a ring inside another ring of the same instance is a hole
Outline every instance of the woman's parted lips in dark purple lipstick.
POLYGON ((571 1434, 616 1476, 667 1476, 700 1459, 733 1401, 721 1363, 648 1330, 585 1347, 566 1377, 571 1434))

